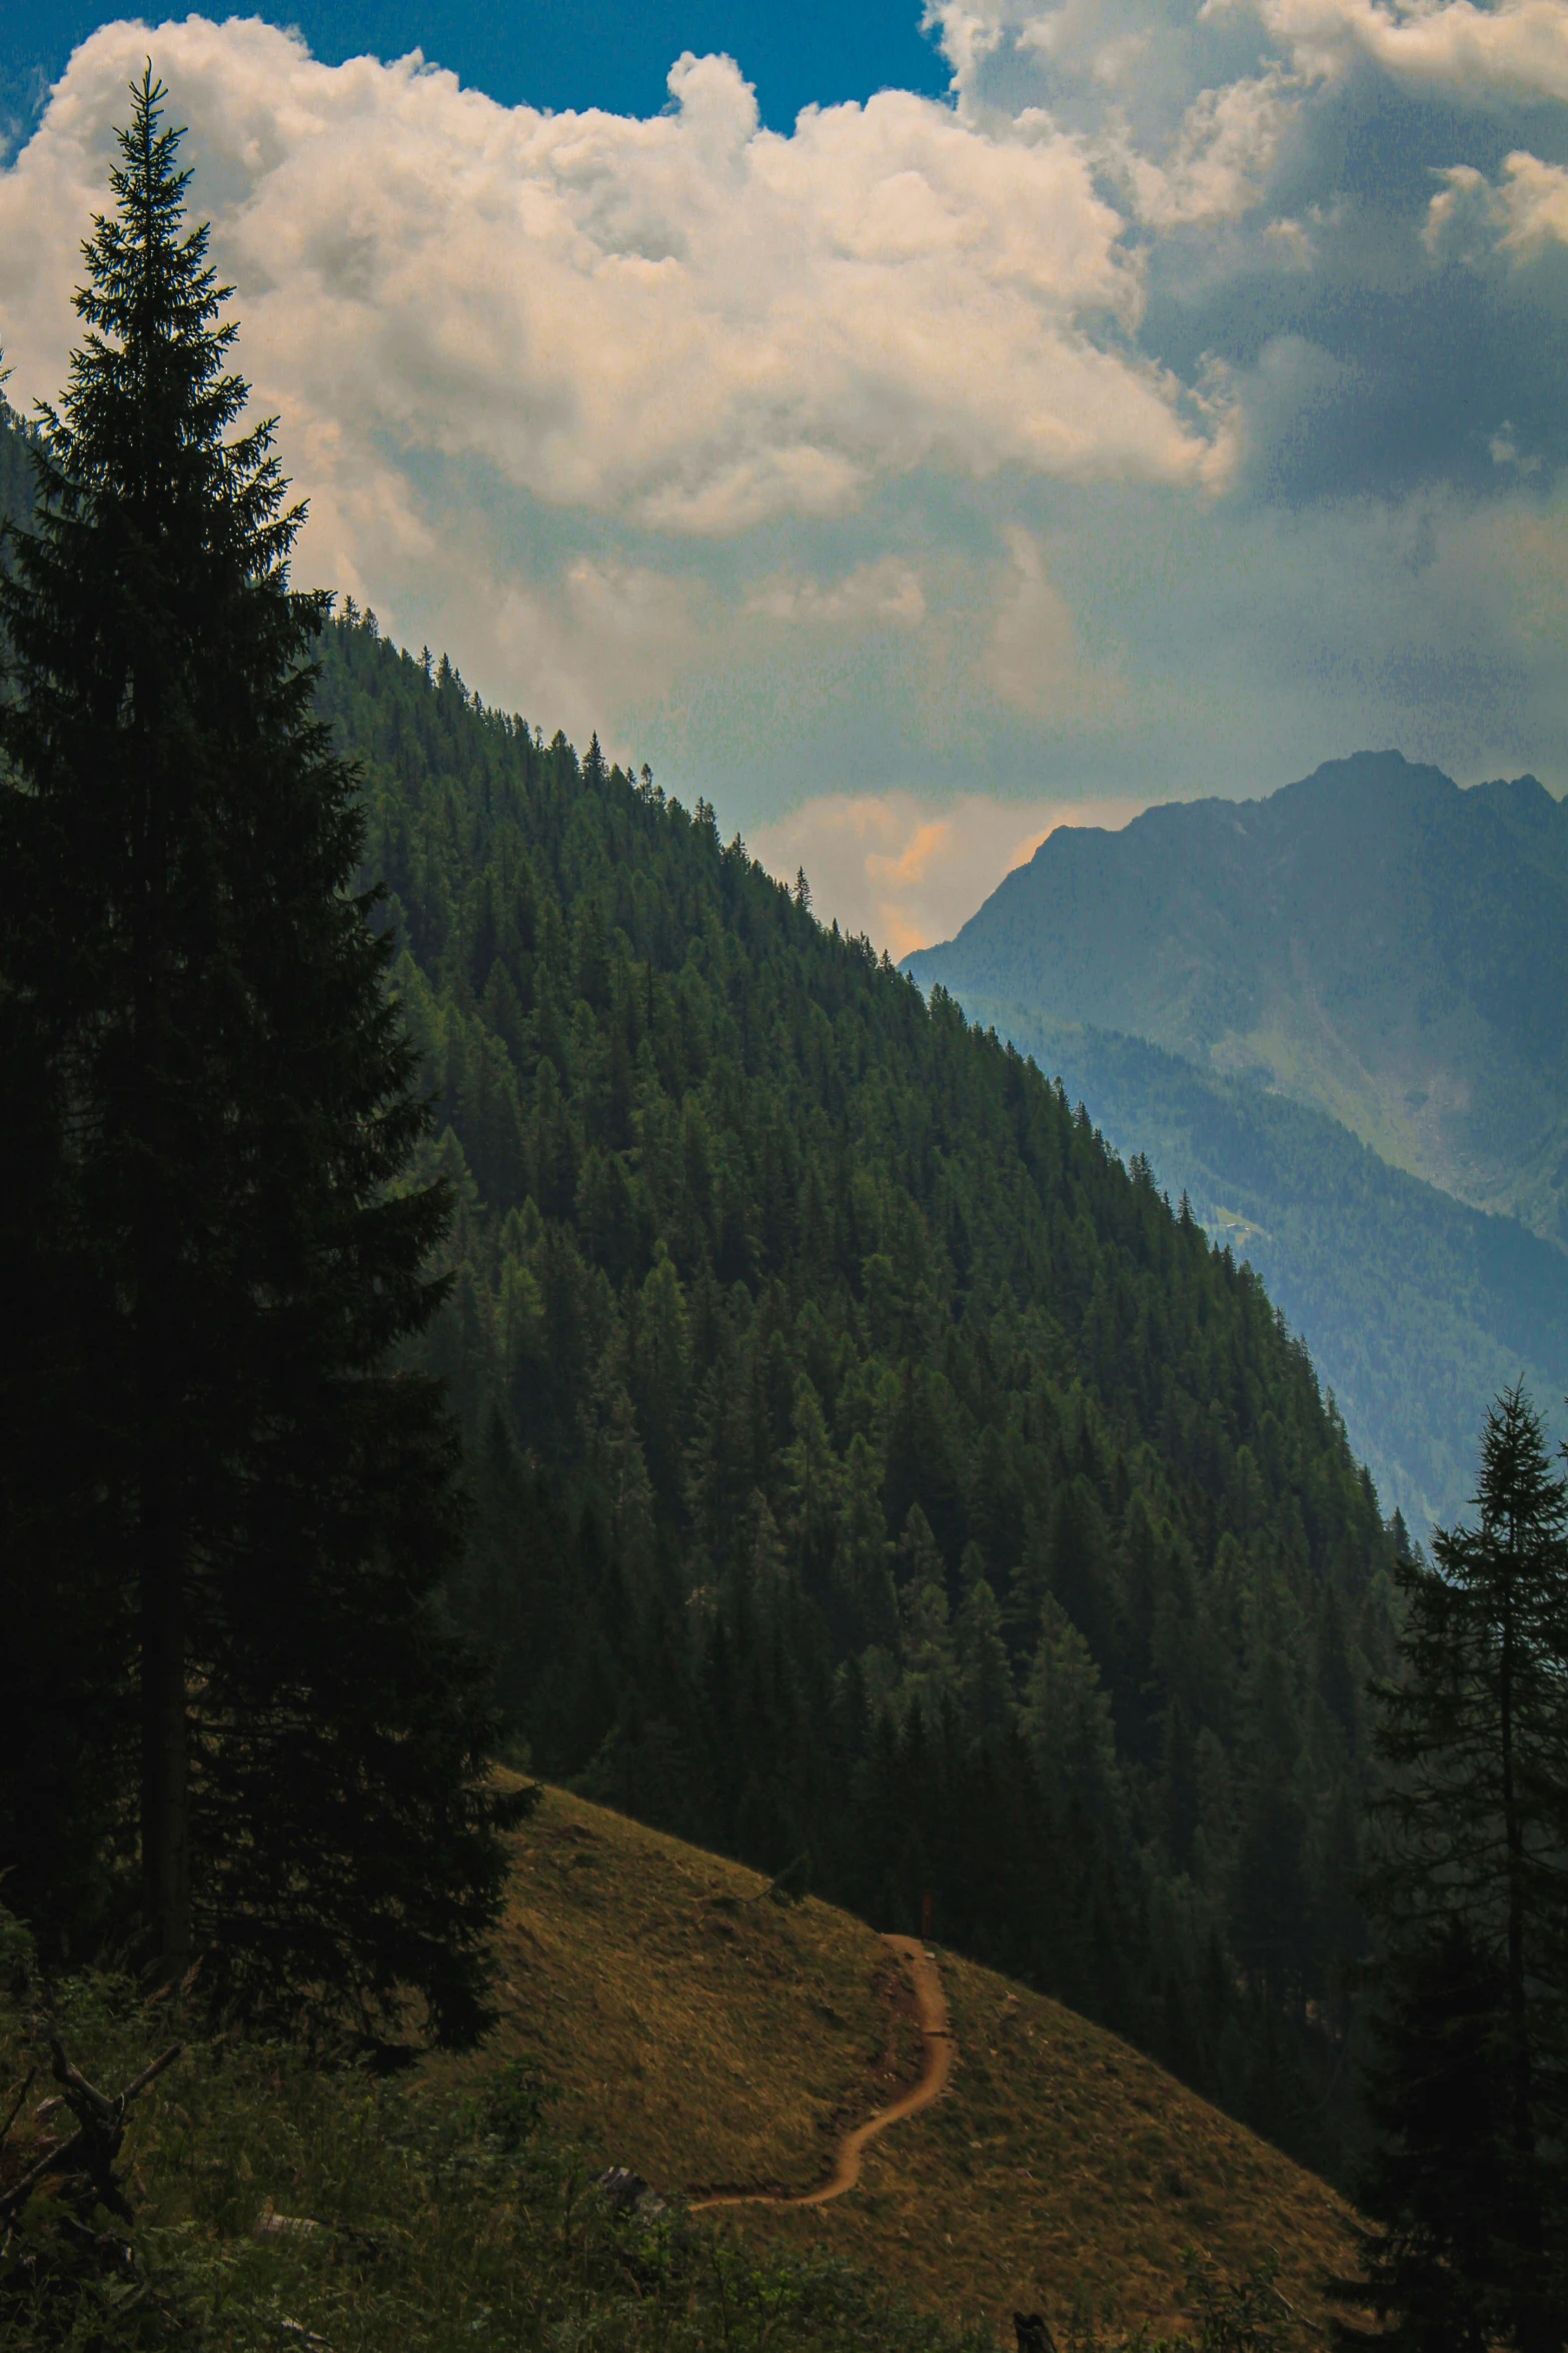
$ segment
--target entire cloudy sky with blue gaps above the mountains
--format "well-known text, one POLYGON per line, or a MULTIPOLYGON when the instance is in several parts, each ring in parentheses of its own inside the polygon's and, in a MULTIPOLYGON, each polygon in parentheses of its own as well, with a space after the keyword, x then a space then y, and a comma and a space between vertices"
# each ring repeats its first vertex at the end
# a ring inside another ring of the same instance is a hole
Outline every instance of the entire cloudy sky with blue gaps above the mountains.
POLYGON ((146 54, 296 576, 947 936, 1060 821, 1568 786, 1568 0, 0 0, 0 351, 146 54))

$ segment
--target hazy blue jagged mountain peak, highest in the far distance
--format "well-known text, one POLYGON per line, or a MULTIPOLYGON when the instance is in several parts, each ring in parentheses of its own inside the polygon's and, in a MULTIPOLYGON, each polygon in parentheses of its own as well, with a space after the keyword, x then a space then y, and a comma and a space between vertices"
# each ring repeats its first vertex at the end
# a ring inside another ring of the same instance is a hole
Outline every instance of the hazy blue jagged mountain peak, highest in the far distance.
POLYGON ((907 969, 1255 1078, 1568 1245, 1568 807, 1399 753, 1060 828, 907 969))

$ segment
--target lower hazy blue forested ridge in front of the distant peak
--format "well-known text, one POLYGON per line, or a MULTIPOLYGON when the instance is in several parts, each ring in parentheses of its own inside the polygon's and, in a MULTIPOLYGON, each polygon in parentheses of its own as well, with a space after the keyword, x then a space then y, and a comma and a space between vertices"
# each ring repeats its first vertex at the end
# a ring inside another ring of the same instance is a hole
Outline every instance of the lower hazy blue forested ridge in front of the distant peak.
POLYGON ((1512 1217, 1389 1167, 1338 1120, 1211 1078, 1140 1038, 966 998, 1088 1104, 1126 1158, 1192 1198, 1302 1334, 1385 1506, 1418 1537, 1474 1487, 1486 1400, 1521 1374, 1556 1419, 1568 1388, 1568 1257, 1512 1217))

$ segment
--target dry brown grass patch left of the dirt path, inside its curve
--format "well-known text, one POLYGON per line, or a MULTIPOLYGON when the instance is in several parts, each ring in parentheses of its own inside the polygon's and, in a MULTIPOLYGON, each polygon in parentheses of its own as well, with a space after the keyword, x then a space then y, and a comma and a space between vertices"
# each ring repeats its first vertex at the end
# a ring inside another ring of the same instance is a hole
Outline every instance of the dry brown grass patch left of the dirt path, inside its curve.
MULTIPOLYGON (((769 1901, 741 1864, 545 1791, 515 1840, 501 2024, 555 2122, 661 2188, 806 2191, 882 2104, 886 1946, 827 1904, 769 1901)), ((905 2066, 919 2066, 907 2035, 905 2066)))

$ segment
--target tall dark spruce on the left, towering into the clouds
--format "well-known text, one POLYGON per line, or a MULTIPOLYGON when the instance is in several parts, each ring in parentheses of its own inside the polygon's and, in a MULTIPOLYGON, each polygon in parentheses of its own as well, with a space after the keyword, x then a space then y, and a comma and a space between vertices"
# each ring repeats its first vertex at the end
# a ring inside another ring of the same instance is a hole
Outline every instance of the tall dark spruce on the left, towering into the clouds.
POLYGON ((465 2033, 489 1720, 440 1621, 454 1431, 395 1369, 449 1207, 404 1174, 430 1111, 313 711, 303 508, 235 431, 150 66, 132 96, 0 576, 0 1864, 80 1934, 120 1857, 167 1981, 364 2024, 414 1986, 465 2033))

